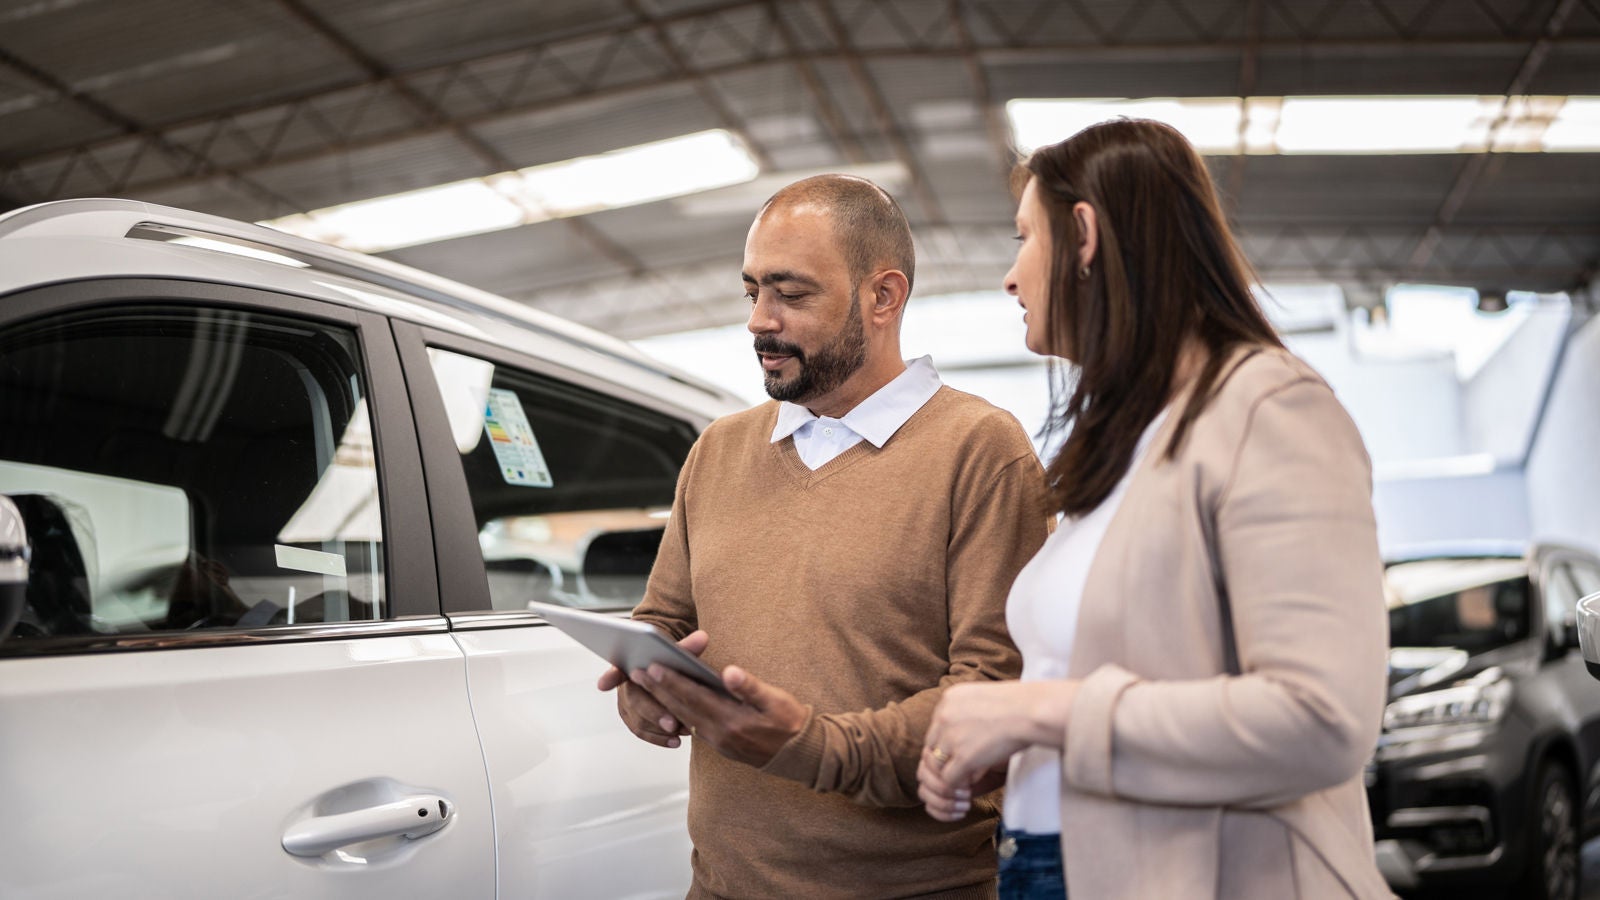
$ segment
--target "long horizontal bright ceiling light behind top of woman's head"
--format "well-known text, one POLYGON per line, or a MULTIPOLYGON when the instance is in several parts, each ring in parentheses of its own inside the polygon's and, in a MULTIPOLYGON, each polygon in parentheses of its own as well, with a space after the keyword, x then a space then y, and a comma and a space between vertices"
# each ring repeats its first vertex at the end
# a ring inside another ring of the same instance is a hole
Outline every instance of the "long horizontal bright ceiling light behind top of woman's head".
POLYGON ((1166 122, 1202 154, 1600 151, 1592 96, 1013 99, 1006 115, 1024 152, 1123 115, 1166 122))

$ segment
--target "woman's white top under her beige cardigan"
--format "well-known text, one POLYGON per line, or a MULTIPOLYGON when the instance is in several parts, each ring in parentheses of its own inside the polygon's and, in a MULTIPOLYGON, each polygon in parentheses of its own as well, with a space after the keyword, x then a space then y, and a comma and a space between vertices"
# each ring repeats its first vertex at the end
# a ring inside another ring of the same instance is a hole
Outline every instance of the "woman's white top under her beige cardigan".
MULTIPOLYGON (((1128 471, 1106 500, 1086 516, 1061 522, 1034 559, 1022 567, 1006 597, 1005 623, 1022 652, 1022 681, 1067 677, 1072 637, 1078 629, 1078 607, 1090 564, 1099 551, 1106 528, 1128 493, 1128 482, 1139 468, 1150 440, 1166 420, 1166 410, 1146 426, 1128 471)), ((1061 831, 1061 751, 1030 746, 1011 757, 1005 783, 1005 826, 1030 834, 1061 831)))

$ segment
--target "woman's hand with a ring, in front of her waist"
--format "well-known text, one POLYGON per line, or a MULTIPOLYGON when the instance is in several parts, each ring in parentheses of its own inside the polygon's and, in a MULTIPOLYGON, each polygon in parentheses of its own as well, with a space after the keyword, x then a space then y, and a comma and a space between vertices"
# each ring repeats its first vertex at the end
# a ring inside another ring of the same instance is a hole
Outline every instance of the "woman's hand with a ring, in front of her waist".
POLYGON ((917 793, 928 815, 962 818, 973 791, 1011 754, 1032 745, 1059 748, 1077 692, 1077 681, 957 684, 946 690, 917 767, 917 793))

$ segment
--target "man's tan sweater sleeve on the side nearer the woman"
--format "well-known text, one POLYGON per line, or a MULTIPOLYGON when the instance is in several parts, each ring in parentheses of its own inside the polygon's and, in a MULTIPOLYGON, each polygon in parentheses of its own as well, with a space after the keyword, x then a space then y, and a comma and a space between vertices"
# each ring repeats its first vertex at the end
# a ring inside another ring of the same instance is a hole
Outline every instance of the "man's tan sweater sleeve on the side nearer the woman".
POLYGON ((918 806, 917 762, 944 689, 1021 674, 1021 657, 1005 626, 1005 602, 1016 573, 1050 530, 1045 476, 1030 448, 986 472, 962 479, 950 498, 946 674, 936 685, 880 709, 811 716, 765 772, 866 806, 918 806))

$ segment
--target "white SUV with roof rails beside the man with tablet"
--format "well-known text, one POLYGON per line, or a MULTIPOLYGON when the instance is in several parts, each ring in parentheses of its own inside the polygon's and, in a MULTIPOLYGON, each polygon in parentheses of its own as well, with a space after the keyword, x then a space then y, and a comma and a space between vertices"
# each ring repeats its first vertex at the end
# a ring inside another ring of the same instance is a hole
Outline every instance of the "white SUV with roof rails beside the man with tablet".
POLYGON ((264 227, 0 216, 0 897, 682 897, 686 754, 526 602, 630 609, 738 405, 264 227))

